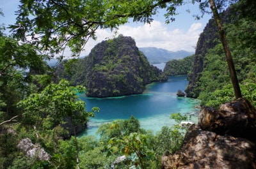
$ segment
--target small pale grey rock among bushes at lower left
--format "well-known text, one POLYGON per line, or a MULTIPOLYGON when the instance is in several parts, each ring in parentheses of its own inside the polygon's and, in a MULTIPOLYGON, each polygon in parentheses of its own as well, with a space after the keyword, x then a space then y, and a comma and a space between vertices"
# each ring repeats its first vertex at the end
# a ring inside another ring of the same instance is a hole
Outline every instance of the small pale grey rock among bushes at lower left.
POLYGON ((31 157, 37 158, 39 160, 46 160, 49 161, 51 159, 51 155, 45 152, 44 148, 39 147, 31 142, 29 138, 24 138, 20 140, 17 147, 23 154, 31 157))

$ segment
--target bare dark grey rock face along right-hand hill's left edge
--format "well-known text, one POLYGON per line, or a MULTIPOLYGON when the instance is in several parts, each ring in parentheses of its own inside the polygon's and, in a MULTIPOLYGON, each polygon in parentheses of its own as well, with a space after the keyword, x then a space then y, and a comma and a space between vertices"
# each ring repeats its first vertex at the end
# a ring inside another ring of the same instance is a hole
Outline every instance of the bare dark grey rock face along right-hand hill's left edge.
POLYGON ((197 98, 199 92, 196 87, 200 73, 202 73, 204 69, 204 57, 207 51, 210 48, 213 48, 217 43, 216 39, 218 36, 218 29, 214 25, 214 20, 209 20, 208 24, 205 26, 204 31, 200 34, 198 42, 196 44, 196 52, 194 59, 194 66, 191 73, 188 75, 189 84, 186 87, 186 96, 189 98, 197 98))

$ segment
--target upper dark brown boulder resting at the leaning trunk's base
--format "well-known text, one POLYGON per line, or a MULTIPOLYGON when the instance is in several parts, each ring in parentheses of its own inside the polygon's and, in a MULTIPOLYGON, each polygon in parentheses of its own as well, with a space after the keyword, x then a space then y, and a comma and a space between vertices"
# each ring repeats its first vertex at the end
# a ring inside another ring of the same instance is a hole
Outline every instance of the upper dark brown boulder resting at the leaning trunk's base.
POLYGON ((237 99, 220 106, 220 110, 202 108, 198 124, 218 135, 247 138, 256 142, 256 109, 246 99, 237 99))

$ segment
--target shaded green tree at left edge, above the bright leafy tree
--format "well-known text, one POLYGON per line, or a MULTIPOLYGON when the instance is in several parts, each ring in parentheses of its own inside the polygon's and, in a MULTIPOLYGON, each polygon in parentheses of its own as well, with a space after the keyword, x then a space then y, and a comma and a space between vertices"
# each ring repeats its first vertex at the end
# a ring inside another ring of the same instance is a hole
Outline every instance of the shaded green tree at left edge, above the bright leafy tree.
POLYGON ((30 44, 0 36, 0 115, 1 121, 18 114, 15 104, 29 94, 29 69, 42 70, 44 55, 36 53, 30 44))

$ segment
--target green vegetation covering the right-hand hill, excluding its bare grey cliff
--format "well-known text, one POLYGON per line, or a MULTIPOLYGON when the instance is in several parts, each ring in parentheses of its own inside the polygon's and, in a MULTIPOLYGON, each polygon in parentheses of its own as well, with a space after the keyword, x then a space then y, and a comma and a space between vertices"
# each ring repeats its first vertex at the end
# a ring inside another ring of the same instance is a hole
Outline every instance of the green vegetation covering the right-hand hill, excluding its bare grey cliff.
MULTIPOLYGON (((255 21, 234 16, 232 10, 231 8, 225 11, 223 15, 223 20, 226 20, 224 26, 227 31, 229 48, 242 95, 256 106, 255 21)), ((216 45, 207 50, 203 59, 203 71, 199 73, 198 86, 195 87, 202 105, 209 107, 218 107, 221 103, 234 99, 223 47, 218 36, 214 41, 216 45)))

